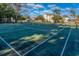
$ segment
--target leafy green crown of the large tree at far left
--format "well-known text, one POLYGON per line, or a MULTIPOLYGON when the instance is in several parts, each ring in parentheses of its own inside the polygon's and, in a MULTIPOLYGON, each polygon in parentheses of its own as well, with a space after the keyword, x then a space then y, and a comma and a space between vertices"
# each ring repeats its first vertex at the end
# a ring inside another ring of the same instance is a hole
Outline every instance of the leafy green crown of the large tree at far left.
POLYGON ((0 17, 14 17, 15 10, 8 4, 0 4, 0 17))

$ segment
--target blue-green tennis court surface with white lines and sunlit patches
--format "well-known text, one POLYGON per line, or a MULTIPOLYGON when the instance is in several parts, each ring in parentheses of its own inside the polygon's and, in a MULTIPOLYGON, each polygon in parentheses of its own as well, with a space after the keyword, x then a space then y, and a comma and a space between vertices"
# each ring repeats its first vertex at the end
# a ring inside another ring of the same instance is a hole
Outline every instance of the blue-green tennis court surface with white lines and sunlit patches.
POLYGON ((0 24, 1 56, 79 56, 79 28, 58 24, 0 24))

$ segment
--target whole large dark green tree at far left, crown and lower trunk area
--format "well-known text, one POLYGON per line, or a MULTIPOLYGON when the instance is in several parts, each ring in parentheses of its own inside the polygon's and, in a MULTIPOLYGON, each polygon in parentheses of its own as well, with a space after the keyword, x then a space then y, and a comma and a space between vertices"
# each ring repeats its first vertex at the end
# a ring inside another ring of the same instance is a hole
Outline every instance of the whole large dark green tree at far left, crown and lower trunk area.
POLYGON ((0 22, 11 21, 11 17, 15 18, 16 12, 9 4, 0 4, 0 22))

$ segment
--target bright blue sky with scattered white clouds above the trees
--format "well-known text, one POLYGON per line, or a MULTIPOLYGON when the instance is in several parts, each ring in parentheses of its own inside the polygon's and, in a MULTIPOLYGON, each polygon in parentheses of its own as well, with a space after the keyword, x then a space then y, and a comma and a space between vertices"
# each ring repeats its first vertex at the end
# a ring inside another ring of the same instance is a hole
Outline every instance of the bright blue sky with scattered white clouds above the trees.
POLYGON ((27 3, 21 7, 21 15, 38 16, 43 14, 53 14, 53 9, 59 8, 61 15, 69 15, 70 8, 75 9, 79 15, 79 4, 78 3, 27 3))

